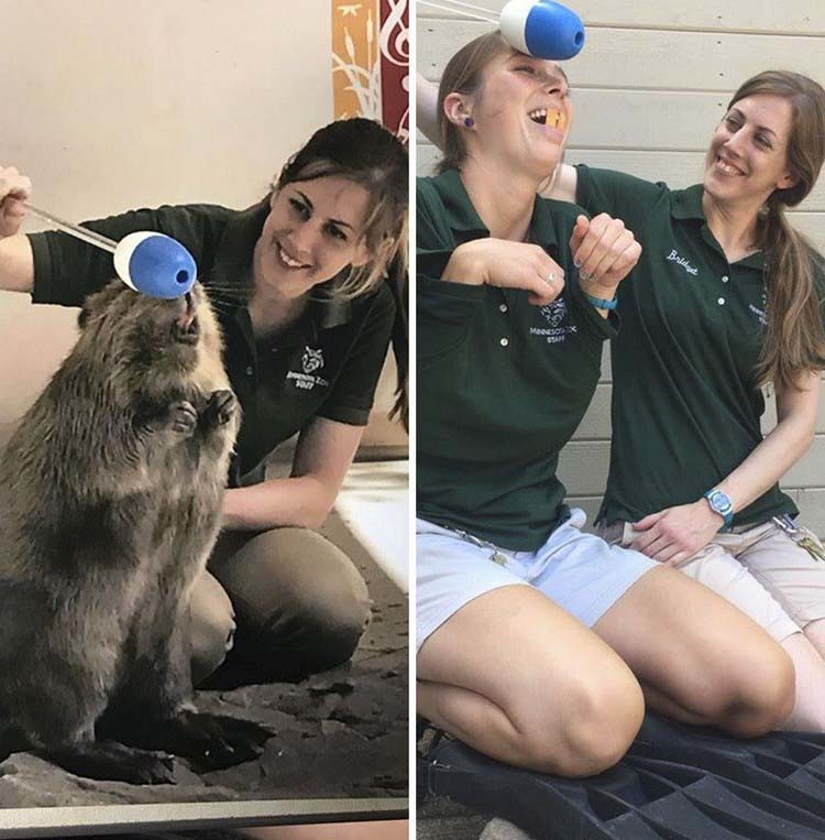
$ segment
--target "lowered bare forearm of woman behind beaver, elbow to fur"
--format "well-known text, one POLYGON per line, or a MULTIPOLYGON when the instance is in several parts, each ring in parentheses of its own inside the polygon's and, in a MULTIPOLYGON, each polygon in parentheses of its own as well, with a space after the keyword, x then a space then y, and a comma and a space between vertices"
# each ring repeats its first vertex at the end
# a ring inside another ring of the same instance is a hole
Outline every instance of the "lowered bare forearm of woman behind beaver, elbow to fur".
POLYGON ((231 531, 267 531, 288 525, 317 528, 334 501, 334 494, 315 476, 271 479, 228 490, 221 524, 231 531))

